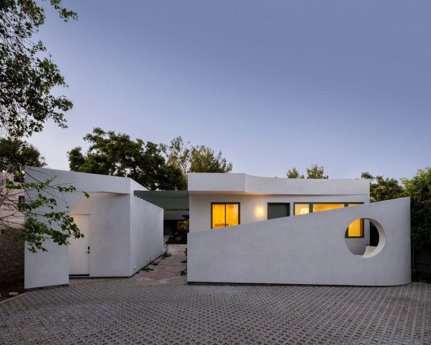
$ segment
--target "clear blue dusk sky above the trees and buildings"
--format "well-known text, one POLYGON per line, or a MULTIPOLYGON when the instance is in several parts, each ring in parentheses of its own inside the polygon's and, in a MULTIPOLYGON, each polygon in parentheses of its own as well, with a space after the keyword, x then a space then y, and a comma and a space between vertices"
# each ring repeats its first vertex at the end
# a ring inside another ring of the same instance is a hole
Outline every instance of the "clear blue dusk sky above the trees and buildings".
MULTIPOLYGON (((45 7, 47 2, 42 3, 45 7)), ((181 135, 234 172, 318 163, 411 178, 431 165, 431 2, 65 1, 40 30, 69 84, 69 128, 31 142, 49 167, 93 127, 181 135)))

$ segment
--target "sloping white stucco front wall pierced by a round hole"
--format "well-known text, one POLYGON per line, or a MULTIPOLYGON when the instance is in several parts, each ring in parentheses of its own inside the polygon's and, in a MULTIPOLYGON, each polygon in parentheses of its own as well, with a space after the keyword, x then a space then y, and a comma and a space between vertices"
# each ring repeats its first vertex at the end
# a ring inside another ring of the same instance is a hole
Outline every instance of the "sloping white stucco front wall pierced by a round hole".
POLYGON ((407 284, 410 199, 191 232, 187 261, 189 282, 407 284), (380 240, 371 254, 356 256, 344 232, 361 218, 373 221, 380 240))

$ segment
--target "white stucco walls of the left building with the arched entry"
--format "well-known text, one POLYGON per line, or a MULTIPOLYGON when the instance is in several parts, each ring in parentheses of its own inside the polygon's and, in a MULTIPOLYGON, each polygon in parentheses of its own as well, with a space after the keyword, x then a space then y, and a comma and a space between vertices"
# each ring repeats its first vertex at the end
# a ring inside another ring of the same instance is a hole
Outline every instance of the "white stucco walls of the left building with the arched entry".
MULTIPOLYGON (((26 182, 45 181, 54 176, 57 176, 54 184, 73 185, 78 191, 56 193, 57 210, 90 214, 90 276, 130 276, 145 265, 142 263, 148 257, 157 252, 161 254, 163 210, 155 205, 139 208, 139 199, 133 191, 145 190, 144 187, 128 178, 26 167, 26 182), (89 193, 90 199, 82 198, 80 191, 89 193), (144 247, 140 247, 142 243, 145 243, 144 247)), ((30 191, 26 198, 34 198, 32 193, 30 191)), ((47 252, 33 254, 25 251, 25 288, 68 284, 68 246, 60 246, 51 240, 42 245, 47 252)))

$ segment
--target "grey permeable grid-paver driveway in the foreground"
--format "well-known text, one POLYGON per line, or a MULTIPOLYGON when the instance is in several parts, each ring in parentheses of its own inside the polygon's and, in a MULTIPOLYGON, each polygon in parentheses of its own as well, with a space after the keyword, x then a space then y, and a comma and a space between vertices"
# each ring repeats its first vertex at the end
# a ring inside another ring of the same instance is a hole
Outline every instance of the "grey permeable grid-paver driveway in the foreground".
POLYGON ((85 280, 0 304, 0 343, 430 344, 431 285, 85 280))

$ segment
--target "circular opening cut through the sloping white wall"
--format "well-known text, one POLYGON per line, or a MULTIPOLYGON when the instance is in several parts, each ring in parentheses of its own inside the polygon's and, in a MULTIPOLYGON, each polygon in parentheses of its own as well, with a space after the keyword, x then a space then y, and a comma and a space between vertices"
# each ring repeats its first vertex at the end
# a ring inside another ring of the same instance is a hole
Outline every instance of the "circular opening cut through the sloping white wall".
POLYGON ((378 222, 364 218, 349 224, 344 233, 344 240, 352 254, 370 257, 383 248, 385 237, 383 228, 378 222))

